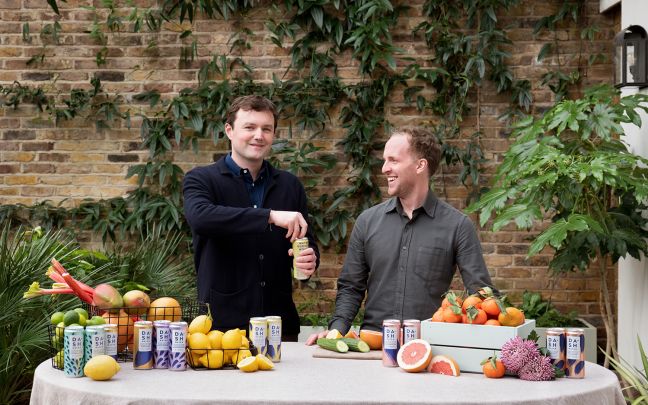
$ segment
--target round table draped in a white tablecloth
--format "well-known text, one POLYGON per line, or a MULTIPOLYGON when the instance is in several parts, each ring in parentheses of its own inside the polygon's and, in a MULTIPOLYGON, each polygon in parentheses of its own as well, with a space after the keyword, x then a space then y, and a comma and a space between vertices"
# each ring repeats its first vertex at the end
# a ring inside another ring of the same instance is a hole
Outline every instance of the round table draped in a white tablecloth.
POLYGON ((122 370, 110 381, 68 378, 51 361, 36 369, 32 405, 55 404, 625 404, 616 376, 587 363, 582 380, 531 382, 406 373, 376 360, 312 358, 286 342, 273 371, 122 370))

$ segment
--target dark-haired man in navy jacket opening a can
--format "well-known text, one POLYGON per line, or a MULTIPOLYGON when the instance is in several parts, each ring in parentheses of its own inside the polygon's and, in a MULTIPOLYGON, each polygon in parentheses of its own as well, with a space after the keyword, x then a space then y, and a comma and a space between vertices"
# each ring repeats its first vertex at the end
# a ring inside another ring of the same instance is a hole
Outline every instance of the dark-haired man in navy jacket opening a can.
POLYGON ((210 303, 213 328, 247 330, 251 317, 279 315, 283 339, 296 340, 291 242, 308 237, 310 247, 295 258, 308 276, 319 265, 319 251, 306 221, 304 187, 265 160, 276 125, 271 101, 234 100, 225 124, 231 153, 187 173, 185 216, 193 234, 198 299, 210 303))

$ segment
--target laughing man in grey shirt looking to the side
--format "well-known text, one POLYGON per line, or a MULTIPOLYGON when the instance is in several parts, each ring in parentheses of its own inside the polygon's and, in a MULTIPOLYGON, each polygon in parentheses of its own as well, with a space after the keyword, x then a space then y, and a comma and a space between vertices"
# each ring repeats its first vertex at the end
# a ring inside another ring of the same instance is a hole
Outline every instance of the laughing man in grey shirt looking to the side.
POLYGON ((365 293, 362 328, 380 331, 384 319, 430 318, 455 268, 471 293, 492 286, 472 221, 430 190, 441 159, 434 135, 424 128, 398 129, 383 157, 392 198, 360 214, 351 233, 329 323, 343 334, 365 293))

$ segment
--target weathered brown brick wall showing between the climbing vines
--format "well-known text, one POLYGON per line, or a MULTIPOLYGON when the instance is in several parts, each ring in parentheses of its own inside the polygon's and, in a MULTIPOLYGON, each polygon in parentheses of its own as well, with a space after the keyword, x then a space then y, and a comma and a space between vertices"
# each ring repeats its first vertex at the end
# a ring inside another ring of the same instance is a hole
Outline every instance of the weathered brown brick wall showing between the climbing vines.
MULTIPOLYGON (((148 2, 136 1, 139 7, 148 2)), ((396 45, 405 50, 406 55, 425 58, 429 50, 421 38, 414 38, 411 30, 421 22, 423 1, 407 2, 412 7, 402 17, 398 29, 392 34, 396 45)), ((591 53, 602 53, 608 60, 599 61, 587 68, 584 85, 611 82, 612 80, 612 39, 618 30, 618 11, 607 15, 598 13, 598 1, 587 2, 587 18, 596 24, 600 32, 593 43, 579 41, 579 28, 559 27, 559 39, 563 57, 560 63, 566 66, 577 64, 576 53, 582 49, 584 60, 591 53)), ((532 30, 535 22, 554 12, 560 2, 538 2, 526 0, 505 15, 500 16, 503 26, 510 26, 509 37, 514 41, 510 46, 512 57, 509 64, 519 79, 529 79, 532 83, 534 112, 543 111, 552 105, 551 92, 540 86, 540 78, 549 65, 558 63, 555 58, 542 62, 536 60, 542 44, 550 39, 548 34, 534 38, 532 30)), ((121 33, 107 35, 107 63, 100 68, 95 63, 95 54, 101 48, 87 33, 92 23, 93 13, 84 6, 99 6, 89 0, 59 2, 61 9, 60 45, 51 40, 39 38, 39 31, 45 24, 54 21, 54 14, 44 0, 0 0, 0 83, 10 84, 19 81, 24 85, 43 86, 50 94, 69 92, 71 88, 89 88, 93 76, 102 79, 109 93, 119 93, 125 100, 124 109, 130 109, 133 116, 132 128, 123 124, 111 129, 97 130, 94 122, 85 118, 54 125, 52 119, 27 104, 18 109, 0 108, 0 202, 2 204, 33 204, 42 200, 60 202, 64 205, 78 204, 84 198, 110 198, 125 195, 133 189, 136 180, 126 180, 128 167, 146 159, 146 151, 139 149, 139 124, 137 113, 146 113, 145 104, 132 101, 136 93, 157 89, 166 99, 177 95, 185 87, 195 86, 199 67, 211 59, 212 54, 227 54, 228 39, 236 27, 244 26, 254 32, 249 38, 252 48, 241 56, 254 67, 254 77, 269 81, 273 74, 281 77, 290 63, 286 50, 278 49, 269 40, 264 28, 268 8, 257 7, 244 20, 230 21, 198 20, 193 31, 199 43, 199 57, 189 66, 179 67, 181 28, 167 23, 160 33, 129 33, 129 27, 121 33), (22 39, 22 27, 29 23, 32 42, 22 39), (157 41, 156 49, 149 49, 149 41, 157 41), (38 66, 27 66, 32 56, 45 53, 44 62, 38 66)), ((122 10, 126 13, 129 10, 122 10)), ((101 14, 101 13, 100 13, 101 14)), ((104 14, 101 14, 105 16, 104 14)), ((103 18, 103 17, 102 17, 103 18)), ((101 18, 100 18, 101 21, 101 18)), ((186 28, 186 26, 185 26, 186 28)), ((337 57, 339 75, 345 81, 359 79, 357 63, 350 54, 337 57)), ((405 62, 400 61, 401 65, 405 62)), ((586 65, 586 63, 584 64, 586 65)), ((399 92, 394 93, 389 105, 387 119, 394 125, 425 124, 433 117, 421 115, 412 106, 407 106, 399 92)), ((489 159, 487 172, 492 172, 499 161, 499 155, 506 150, 507 136, 510 132, 498 116, 508 105, 508 96, 498 95, 492 84, 486 83, 477 94, 470 98, 472 112, 464 120, 466 134, 477 128, 483 132, 482 144, 489 159)), ((315 139, 316 144, 335 148, 342 139, 343 130, 337 125, 335 108, 332 108, 332 124, 324 135, 315 139)), ((280 128, 279 137, 286 136, 286 123, 280 128)), ((306 134, 295 134, 295 140, 306 139, 306 134)), ((461 142, 459 140, 458 142, 461 142)), ((224 142, 213 145, 201 143, 201 152, 176 151, 175 160, 188 170, 196 165, 211 162, 215 155, 226 151, 224 142)), ((338 151, 338 156, 343 157, 338 151)), ((343 166, 342 162, 340 166, 343 166)), ((458 184, 458 168, 445 168, 436 178, 439 194, 458 208, 464 208, 467 190, 458 184)), ((331 192, 345 183, 346 173, 336 171, 327 176, 323 190, 331 192), (328 188, 327 188, 328 187, 328 188)), ((384 186, 384 180, 380 180, 384 186)), ((540 228, 538 228, 540 229, 540 228)), ((509 293, 513 301, 520 299, 525 289, 539 290, 548 297, 552 291, 552 279, 547 276, 547 263, 550 252, 526 259, 529 237, 533 233, 519 232, 512 227, 498 233, 480 233, 486 262, 496 286, 509 293)), ((321 288, 311 290, 300 288, 297 299, 305 304, 313 303, 309 311, 330 311, 335 296, 335 279, 344 259, 344 246, 325 250, 319 270, 321 288), (338 253, 339 251, 339 253, 338 253)), ((610 281, 616 291, 616 276, 610 281)), ((598 280, 594 273, 570 274, 555 281, 553 301, 560 309, 576 309, 597 325, 601 325, 599 313, 598 280)), ((460 288, 460 281, 455 283, 460 288)))

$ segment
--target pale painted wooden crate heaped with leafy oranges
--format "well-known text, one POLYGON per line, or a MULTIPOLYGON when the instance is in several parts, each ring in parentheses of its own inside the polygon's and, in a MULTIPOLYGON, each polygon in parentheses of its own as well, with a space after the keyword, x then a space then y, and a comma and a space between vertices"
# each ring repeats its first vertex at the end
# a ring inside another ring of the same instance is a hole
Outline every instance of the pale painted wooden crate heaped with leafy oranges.
POLYGON ((421 338, 432 345, 432 354, 455 359, 462 372, 481 373, 479 363, 493 355, 499 356, 502 345, 515 336, 526 338, 535 328, 535 320, 527 319, 516 327, 469 325, 463 323, 421 321, 421 338))

